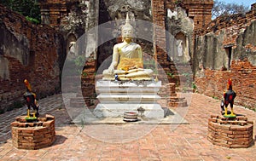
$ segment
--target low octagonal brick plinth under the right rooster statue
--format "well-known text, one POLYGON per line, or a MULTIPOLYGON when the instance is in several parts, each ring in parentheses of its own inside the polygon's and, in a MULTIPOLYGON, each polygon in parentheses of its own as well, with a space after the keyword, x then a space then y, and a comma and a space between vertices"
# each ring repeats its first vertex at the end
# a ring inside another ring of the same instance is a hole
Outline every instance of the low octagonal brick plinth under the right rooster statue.
POLYGON ((253 143, 253 122, 246 117, 208 119, 208 140, 214 145, 230 148, 246 148, 253 143))

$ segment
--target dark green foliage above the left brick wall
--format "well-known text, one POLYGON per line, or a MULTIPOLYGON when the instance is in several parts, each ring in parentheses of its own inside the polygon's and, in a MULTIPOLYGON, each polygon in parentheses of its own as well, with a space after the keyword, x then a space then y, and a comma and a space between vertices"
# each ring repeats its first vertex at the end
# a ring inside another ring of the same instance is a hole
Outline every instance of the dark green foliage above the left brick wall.
POLYGON ((41 21, 40 7, 37 0, 0 0, 0 3, 26 16, 26 20, 30 20, 33 23, 41 21))

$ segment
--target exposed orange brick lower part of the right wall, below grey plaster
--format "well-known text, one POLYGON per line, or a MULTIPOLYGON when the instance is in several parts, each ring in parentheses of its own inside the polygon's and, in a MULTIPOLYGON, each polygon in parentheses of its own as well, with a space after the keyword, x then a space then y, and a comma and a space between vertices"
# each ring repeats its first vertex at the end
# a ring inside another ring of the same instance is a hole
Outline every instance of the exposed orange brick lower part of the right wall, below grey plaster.
POLYGON ((205 69, 204 77, 196 77, 195 83, 199 93, 223 99, 229 78, 236 92, 235 104, 256 108, 256 66, 248 60, 233 60, 230 71, 205 69))

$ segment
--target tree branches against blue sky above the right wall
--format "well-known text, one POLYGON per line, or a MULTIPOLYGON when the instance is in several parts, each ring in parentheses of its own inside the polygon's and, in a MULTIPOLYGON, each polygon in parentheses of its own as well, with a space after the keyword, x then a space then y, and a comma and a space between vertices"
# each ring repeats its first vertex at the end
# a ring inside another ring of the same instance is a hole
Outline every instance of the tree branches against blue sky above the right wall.
POLYGON ((245 14, 248 10, 248 6, 236 3, 224 3, 222 1, 214 0, 212 19, 215 19, 220 15, 245 14))

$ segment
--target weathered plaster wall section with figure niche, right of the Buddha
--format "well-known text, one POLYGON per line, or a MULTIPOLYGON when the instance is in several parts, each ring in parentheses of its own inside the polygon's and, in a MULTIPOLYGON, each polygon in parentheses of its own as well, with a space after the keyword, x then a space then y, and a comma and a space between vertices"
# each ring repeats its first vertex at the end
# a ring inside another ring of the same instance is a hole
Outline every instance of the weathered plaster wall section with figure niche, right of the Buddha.
POLYGON ((167 9, 166 30, 172 36, 166 37, 168 55, 176 62, 189 62, 193 49, 194 20, 189 18, 185 9, 167 9))

